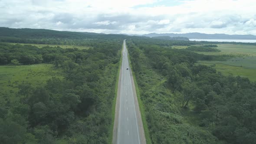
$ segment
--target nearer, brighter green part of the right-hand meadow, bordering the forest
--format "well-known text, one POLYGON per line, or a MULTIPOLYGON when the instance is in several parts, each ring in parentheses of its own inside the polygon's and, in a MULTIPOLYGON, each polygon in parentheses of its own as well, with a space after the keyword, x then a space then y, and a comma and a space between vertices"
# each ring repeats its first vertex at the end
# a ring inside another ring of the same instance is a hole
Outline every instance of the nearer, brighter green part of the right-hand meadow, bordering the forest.
MULTIPOLYGON (((254 58, 256 59, 256 58, 254 58)), ((246 77, 253 82, 256 82, 256 64, 250 63, 248 60, 243 60, 242 62, 237 61, 198 61, 199 64, 203 65, 214 65, 217 72, 223 73, 223 75, 240 75, 246 77)))

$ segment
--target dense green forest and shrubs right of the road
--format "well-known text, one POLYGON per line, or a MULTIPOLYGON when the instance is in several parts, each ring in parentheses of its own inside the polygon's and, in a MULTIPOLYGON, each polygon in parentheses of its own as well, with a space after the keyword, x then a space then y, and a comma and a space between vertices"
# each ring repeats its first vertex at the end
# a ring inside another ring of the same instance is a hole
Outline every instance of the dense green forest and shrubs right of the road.
POLYGON ((256 83, 198 65, 204 55, 166 47, 181 42, 154 42, 127 40, 151 143, 255 144, 256 83))

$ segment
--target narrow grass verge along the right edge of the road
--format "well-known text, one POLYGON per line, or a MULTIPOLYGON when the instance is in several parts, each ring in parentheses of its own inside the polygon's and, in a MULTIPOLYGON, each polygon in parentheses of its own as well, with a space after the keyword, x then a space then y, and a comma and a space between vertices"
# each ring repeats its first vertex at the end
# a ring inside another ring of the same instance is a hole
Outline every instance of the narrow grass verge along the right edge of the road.
POLYGON ((136 77, 135 77, 135 72, 133 72, 133 70, 132 70, 132 65, 131 65, 131 59, 130 59, 130 56, 129 56, 129 52, 127 52, 127 53, 128 53, 129 66, 130 66, 132 76, 133 76, 133 79, 134 79, 134 83, 135 83, 136 95, 137 95, 139 108, 140 108, 140 112, 141 112, 141 119, 142 119, 142 123, 143 123, 144 134, 145 134, 145 138, 146 138, 146 144, 152 144, 150 134, 149 134, 149 130, 148 130, 148 123, 147 123, 147 120, 146 120, 144 105, 141 101, 139 86, 138 86, 138 83, 137 83, 137 80, 136 80, 136 77))

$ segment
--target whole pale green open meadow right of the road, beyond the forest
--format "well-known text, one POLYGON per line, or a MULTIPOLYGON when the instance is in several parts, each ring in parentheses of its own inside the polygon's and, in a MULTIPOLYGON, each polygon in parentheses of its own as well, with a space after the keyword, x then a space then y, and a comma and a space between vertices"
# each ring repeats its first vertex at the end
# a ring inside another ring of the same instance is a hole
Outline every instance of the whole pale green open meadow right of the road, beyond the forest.
POLYGON ((221 52, 197 52, 205 55, 228 55, 234 58, 226 61, 198 61, 204 65, 214 65, 223 75, 240 75, 256 82, 256 46, 219 44, 221 52))

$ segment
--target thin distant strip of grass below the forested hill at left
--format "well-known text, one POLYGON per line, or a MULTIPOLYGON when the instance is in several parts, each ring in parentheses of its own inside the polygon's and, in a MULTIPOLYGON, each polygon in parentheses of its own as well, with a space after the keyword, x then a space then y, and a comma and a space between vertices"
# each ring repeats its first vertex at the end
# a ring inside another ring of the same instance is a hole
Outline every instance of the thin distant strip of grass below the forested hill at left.
POLYGON ((9 43, 9 44, 20 44, 20 45, 32 45, 32 46, 37 46, 38 48, 42 48, 44 46, 59 46, 63 49, 68 49, 68 48, 78 48, 78 49, 89 49, 90 47, 87 46, 74 46, 74 45, 49 45, 49 44, 35 44, 35 43, 9 43))

